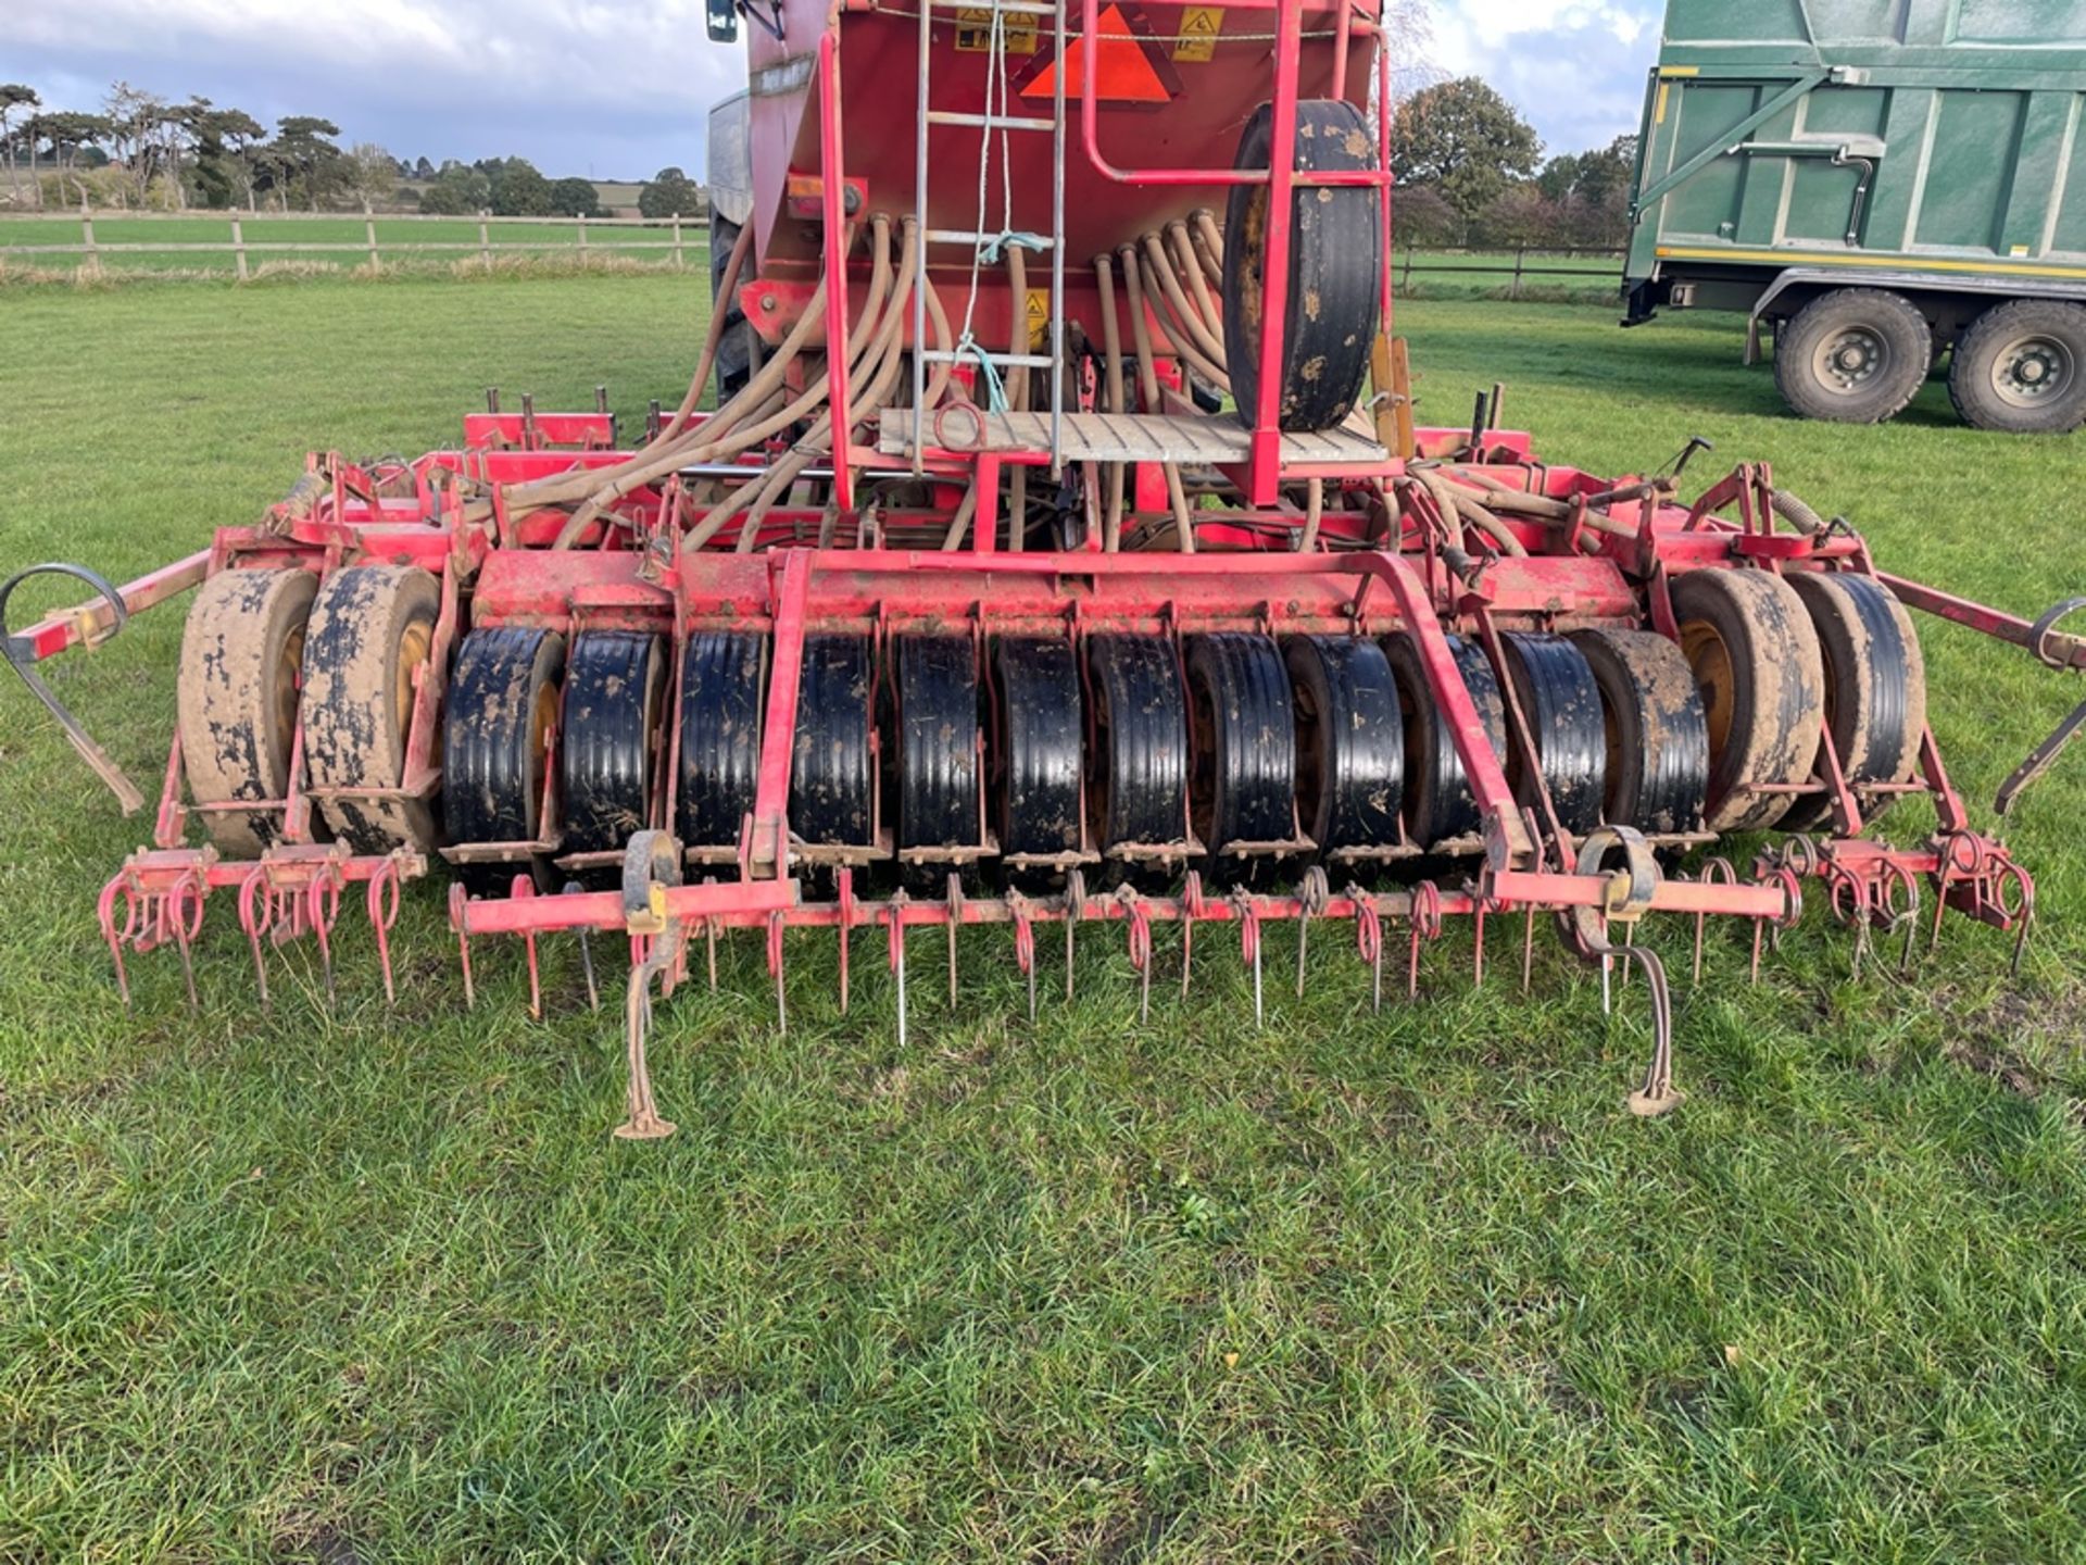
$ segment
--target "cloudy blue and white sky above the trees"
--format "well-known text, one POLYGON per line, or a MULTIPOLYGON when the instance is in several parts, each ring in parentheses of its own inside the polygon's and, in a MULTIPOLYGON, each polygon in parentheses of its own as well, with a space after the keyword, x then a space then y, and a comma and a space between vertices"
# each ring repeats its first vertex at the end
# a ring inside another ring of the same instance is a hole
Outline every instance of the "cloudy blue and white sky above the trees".
MULTIPOLYGON (((551 175, 703 165, 743 48, 701 0, 23 0, 0 81, 92 109, 113 79, 273 121, 321 115, 405 159, 522 154, 551 175)), ((1575 152, 1635 129, 1658 0, 1435 0, 1433 63, 1487 75, 1575 152)))

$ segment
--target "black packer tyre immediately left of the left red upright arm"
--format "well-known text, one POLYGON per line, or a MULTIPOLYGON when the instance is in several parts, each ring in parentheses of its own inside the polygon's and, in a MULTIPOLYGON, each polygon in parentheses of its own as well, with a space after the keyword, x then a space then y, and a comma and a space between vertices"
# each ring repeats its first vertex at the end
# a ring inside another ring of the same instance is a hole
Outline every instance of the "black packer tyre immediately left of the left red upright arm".
POLYGON ((761 770, 768 639, 699 630, 680 659, 682 847, 738 847, 761 770))

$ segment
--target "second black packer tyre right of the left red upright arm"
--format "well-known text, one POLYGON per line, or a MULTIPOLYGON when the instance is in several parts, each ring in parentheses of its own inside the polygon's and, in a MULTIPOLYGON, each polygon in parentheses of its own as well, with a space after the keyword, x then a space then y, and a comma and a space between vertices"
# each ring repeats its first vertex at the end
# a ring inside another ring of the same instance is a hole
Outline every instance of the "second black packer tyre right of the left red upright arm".
POLYGON ((899 847, 978 843, 978 655, 970 636, 897 636, 899 847))

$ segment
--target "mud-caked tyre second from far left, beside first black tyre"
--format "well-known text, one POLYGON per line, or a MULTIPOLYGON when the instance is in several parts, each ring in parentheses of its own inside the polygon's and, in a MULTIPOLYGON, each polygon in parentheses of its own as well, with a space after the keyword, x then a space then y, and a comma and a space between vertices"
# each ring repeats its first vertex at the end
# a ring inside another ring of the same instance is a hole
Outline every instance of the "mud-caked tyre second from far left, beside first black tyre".
MULTIPOLYGON (((434 651, 442 586, 419 565, 346 565, 319 584, 305 634, 305 774, 315 789, 405 780, 417 676, 434 651)), ((319 799, 357 853, 432 849, 434 799, 319 799)))

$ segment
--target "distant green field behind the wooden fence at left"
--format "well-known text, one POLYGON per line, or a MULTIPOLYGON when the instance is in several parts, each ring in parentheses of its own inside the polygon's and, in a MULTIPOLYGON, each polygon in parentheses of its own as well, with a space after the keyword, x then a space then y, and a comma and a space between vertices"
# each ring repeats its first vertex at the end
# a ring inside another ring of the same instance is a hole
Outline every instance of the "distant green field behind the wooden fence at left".
MULTIPOLYGON (((359 267, 367 261, 367 234, 361 217, 242 217, 248 265, 292 261, 298 265, 359 267), (340 250, 265 250, 263 244, 338 244, 340 250)), ((446 265, 478 252, 478 219, 474 217, 378 217, 378 252, 386 265, 446 265), (413 246, 448 244, 467 248, 415 250, 413 246)), ((580 225, 572 219, 542 223, 490 223, 488 238, 499 255, 549 255, 578 242, 580 225)), ((684 259, 688 265, 707 252, 709 230, 697 219, 682 221, 684 259)), ((672 248, 668 223, 647 227, 588 225, 588 248, 645 244, 626 248, 638 261, 668 261, 672 248)), ((211 271, 232 273, 232 217, 96 217, 94 242, 111 244, 198 244, 202 250, 136 252, 115 250, 100 257, 104 271, 211 271)), ((0 248, 19 244, 81 244, 77 217, 0 217, 0 248)), ((71 269, 81 255, 0 255, 0 267, 71 269)))

